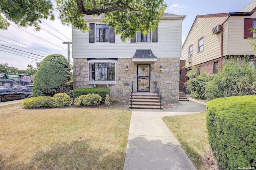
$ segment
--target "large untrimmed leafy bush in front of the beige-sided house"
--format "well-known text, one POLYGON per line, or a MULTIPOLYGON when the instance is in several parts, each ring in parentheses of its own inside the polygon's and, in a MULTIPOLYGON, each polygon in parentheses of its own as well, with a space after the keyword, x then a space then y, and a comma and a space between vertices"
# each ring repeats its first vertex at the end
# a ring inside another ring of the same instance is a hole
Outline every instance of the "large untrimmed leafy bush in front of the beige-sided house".
POLYGON ((228 59, 206 88, 206 96, 210 100, 229 96, 245 96, 256 94, 256 71, 244 57, 228 59))

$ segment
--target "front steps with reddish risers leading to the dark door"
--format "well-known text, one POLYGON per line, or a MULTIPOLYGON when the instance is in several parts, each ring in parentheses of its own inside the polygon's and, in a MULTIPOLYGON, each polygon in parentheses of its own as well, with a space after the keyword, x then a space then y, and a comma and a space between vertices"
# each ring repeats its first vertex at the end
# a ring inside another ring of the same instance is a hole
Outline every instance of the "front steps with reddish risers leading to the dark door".
POLYGON ((158 96, 156 93, 132 93, 130 94, 129 108, 132 109, 161 109, 158 96), (131 106, 132 100, 132 106, 131 106))

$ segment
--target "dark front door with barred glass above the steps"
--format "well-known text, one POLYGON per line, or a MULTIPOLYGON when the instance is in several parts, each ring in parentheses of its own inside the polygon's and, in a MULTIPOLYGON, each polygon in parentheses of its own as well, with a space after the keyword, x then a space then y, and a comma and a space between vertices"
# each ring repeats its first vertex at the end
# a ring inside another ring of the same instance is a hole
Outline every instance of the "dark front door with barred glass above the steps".
POLYGON ((137 92, 150 92, 150 64, 138 64, 137 92))

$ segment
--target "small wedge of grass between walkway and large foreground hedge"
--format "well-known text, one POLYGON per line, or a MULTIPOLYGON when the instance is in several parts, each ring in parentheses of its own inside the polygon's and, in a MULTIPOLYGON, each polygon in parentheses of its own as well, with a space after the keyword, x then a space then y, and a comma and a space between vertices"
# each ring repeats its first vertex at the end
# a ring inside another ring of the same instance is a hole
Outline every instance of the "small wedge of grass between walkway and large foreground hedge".
POLYGON ((203 112, 162 119, 198 170, 218 169, 208 143, 205 116, 203 112))

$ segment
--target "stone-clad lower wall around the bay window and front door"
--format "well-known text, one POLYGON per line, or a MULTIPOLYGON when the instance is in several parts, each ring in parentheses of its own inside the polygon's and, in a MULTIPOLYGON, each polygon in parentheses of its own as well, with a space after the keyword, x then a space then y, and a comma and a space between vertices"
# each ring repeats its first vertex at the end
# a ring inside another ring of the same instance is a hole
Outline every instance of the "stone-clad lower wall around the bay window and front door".
MULTIPOLYGON (((162 101, 178 103, 180 59, 158 58, 155 63, 150 63, 150 68, 150 92, 154 93, 154 82, 158 81, 162 92, 162 101), (163 67, 162 72, 160 72, 160 65, 163 67)), ((94 87, 94 85, 88 85, 88 70, 87 59, 74 59, 74 89, 94 87)), ((134 63, 132 59, 118 59, 116 63, 116 84, 109 85, 110 100, 128 102, 132 81, 134 82, 133 92, 136 92, 137 63, 134 63), (128 65, 128 71, 125 70, 126 65, 128 65)), ((97 88, 107 87, 106 85, 97 85, 97 88)))

